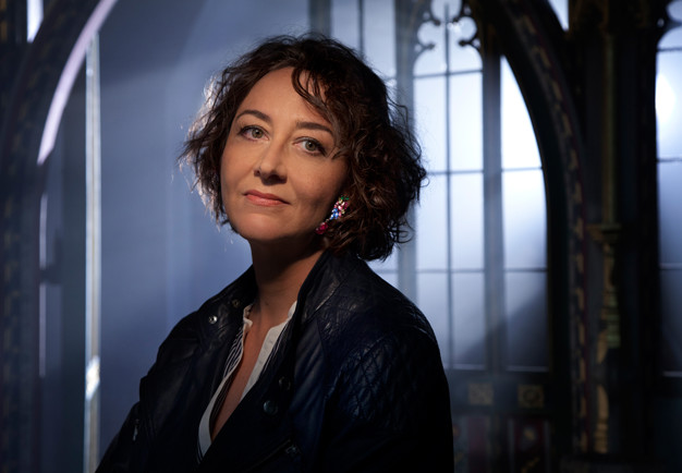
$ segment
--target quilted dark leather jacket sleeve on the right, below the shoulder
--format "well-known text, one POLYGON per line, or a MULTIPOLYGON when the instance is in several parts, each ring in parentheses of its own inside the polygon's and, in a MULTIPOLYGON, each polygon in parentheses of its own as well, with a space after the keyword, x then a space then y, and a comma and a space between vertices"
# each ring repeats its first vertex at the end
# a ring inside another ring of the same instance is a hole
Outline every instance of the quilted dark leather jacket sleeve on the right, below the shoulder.
POLYGON ((426 330, 391 330, 348 356, 330 399, 329 472, 452 472, 450 400, 426 330))

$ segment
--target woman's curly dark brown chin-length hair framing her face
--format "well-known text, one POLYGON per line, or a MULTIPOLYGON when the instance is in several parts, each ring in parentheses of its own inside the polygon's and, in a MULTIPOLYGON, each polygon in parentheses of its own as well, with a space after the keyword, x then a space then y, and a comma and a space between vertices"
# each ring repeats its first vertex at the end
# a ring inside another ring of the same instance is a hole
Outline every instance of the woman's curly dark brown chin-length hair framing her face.
POLYGON ((278 36, 261 43, 218 74, 190 130, 181 160, 195 172, 206 206, 227 223, 220 161, 232 120, 252 87, 269 72, 293 68, 294 89, 331 123, 337 157, 348 160, 350 207, 326 231, 327 247, 363 259, 386 258, 410 228, 426 171, 404 107, 350 48, 320 35, 278 36))

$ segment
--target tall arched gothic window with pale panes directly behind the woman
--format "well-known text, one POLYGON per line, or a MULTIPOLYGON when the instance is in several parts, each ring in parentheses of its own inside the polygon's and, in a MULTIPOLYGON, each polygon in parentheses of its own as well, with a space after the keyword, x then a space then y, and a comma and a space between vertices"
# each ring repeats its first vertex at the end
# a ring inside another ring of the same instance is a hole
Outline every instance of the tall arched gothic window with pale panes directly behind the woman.
MULTIPOLYGON (((331 34, 400 82, 394 58, 409 33, 395 31, 405 13, 397 4, 428 5, 411 17, 419 26, 406 47, 422 50, 407 86, 428 185, 412 247, 374 267, 434 327, 451 385, 456 471, 521 468, 521 437, 533 438, 526 452, 549 469, 547 207, 534 129, 500 39, 477 31, 490 26, 466 3, 336 0, 331 34)), ((552 4, 565 27, 565 0, 552 4)))

